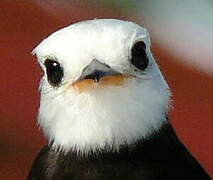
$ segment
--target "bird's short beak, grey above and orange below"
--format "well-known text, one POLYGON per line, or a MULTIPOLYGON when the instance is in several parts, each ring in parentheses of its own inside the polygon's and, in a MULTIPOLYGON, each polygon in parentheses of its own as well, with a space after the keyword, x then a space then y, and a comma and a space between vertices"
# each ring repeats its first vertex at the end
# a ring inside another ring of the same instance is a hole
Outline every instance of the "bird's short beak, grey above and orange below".
POLYGON ((83 92, 100 86, 121 86, 126 78, 127 75, 114 71, 107 64, 93 60, 72 85, 78 92, 83 92))

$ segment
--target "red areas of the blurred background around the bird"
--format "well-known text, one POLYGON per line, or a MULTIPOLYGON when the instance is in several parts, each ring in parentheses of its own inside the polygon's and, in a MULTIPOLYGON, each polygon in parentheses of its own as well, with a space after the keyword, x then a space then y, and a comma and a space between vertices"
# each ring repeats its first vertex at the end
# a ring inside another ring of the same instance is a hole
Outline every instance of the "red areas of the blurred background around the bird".
MULTIPOLYGON (((36 125, 41 71, 30 54, 33 47, 57 29, 79 20, 131 20, 115 9, 91 4, 75 3, 68 9, 69 15, 54 10, 50 15, 27 0, 0 2, 0 179, 26 179, 45 143, 36 125)), ((181 64, 155 40, 152 49, 173 91, 173 126, 213 177, 213 77, 181 64)))

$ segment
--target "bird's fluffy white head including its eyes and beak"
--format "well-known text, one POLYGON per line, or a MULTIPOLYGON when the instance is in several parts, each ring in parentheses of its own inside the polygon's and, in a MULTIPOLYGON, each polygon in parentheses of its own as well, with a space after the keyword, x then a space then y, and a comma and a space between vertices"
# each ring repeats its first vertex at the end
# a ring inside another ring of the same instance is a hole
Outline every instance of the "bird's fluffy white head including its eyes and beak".
POLYGON ((39 125, 53 147, 118 150, 166 121, 170 91, 139 25, 82 21, 50 35, 33 54, 44 71, 39 125))

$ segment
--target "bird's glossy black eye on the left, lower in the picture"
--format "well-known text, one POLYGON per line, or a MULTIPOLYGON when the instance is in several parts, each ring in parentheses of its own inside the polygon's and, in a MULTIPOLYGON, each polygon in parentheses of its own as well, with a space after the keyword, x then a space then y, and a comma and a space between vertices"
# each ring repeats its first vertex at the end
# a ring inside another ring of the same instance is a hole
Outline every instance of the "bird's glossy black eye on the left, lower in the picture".
POLYGON ((48 82, 52 86, 58 86, 64 75, 62 67, 57 61, 51 59, 46 59, 44 65, 46 67, 48 82))

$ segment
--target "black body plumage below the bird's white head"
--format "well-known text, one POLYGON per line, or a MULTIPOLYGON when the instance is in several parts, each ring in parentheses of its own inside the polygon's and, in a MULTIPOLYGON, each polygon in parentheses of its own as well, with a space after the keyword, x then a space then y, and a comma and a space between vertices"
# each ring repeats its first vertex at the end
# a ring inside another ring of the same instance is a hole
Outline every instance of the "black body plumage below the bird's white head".
POLYGON ((169 123, 146 140, 123 146, 119 152, 88 156, 64 154, 45 146, 28 180, 210 180, 177 138, 169 123))

